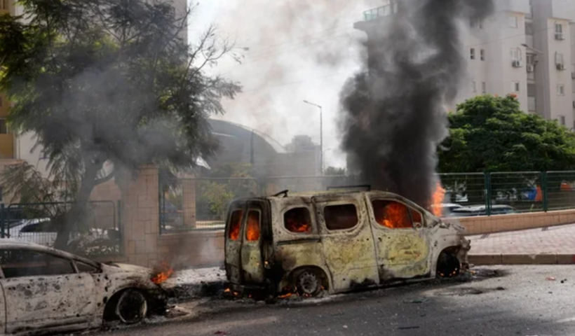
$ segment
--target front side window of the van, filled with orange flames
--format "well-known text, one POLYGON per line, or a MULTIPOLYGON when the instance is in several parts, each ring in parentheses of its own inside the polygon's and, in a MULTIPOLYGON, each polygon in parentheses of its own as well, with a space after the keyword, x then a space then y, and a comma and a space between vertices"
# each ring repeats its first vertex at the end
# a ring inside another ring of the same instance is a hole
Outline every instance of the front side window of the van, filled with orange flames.
POLYGON ((375 221, 388 229, 411 229, 414 223, 421 226, 421 214, 407 205, 389 200, 372 201, 375 221), (413 219, 412 219, 413 218, 413 219))

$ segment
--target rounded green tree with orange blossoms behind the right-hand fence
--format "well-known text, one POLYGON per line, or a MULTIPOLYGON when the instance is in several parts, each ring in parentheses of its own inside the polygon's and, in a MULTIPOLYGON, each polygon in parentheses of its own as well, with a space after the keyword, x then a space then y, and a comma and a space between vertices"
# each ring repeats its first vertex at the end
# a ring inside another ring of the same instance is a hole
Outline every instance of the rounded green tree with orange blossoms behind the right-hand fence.
POLYGON ((570 170, 575 135, 556 121, 523 113, 513 95, 483 95, 449 114, 449 137, 438 155, 441 173, 570 170))

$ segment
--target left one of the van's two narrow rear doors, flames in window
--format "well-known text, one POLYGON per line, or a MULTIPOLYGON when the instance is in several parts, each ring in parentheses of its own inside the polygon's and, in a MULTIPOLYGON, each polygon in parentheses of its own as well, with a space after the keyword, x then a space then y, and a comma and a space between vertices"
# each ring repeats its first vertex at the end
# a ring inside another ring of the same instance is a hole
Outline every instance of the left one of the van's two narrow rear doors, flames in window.
POLYGON ((228 210, 225 230, 226 274, 228 281, 241 284, 242 223, 246 210, 245 202, 234 202, 228 210))

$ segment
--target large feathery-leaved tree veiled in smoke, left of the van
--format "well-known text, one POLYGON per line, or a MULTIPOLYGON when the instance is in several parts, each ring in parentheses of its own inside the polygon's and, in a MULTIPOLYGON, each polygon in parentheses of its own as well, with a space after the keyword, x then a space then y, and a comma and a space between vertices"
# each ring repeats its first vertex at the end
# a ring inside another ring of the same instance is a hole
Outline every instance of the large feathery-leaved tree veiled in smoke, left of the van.
POLYGON ((50 180, 70 191, 56 241, 66 248, 97 184, 148 163, 189 169, 215 153, 207 119, 241 87, 205 71, 233 45, 213 27, 188 45, 190 10, 178 16, 167 1, 20 3, 24 15, 0 18, 0 90, 14 104, 8 122, 36 134, 50 180))

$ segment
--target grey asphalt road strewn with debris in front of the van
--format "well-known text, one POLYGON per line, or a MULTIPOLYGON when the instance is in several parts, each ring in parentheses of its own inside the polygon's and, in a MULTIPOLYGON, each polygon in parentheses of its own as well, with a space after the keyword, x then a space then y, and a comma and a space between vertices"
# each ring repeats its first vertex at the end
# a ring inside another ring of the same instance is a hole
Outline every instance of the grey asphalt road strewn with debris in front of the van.
POLYGON ((476 270, 471 281, 434 281, 323 299, 189 302, 182 307, 193 314, 93 335, 575 335, 574 267, 476 270))

